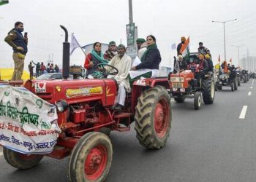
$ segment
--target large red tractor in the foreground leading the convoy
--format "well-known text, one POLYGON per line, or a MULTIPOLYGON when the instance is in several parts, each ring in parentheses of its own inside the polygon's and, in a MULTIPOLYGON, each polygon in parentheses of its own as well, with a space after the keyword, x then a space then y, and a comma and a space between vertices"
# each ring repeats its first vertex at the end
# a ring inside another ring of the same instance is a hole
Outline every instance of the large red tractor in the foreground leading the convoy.
MULTIPOLYGON (((111 109, 118 86, 113 79, 67 79, 69 42, 67 29, 61 80, 28 80, 23 87, 57 107, 61 133, 48 157, 70 155, 70 181, 104 181, 110 170, 113 149, 111 131, 129 131, 135 122, 140 144, 146 149, 161 149, 170 134, 171 106, 167 79, 143 79, 133 83, 127 94, 126 111, 111 109)), ((108 73, 104 73, 105 76, 108 73)), ((74 76, 76 77, 76 76, 74 76)), ((44 155, 20 154, 4 147, 4 158, 18 169, 37 165, 44 155)))

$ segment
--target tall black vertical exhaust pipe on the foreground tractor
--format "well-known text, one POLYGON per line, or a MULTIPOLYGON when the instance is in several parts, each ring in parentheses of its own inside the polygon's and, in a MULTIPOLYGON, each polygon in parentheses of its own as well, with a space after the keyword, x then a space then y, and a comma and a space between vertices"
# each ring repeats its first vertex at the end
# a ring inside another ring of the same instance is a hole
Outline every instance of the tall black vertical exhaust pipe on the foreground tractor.
POLYGON ((65 28, 63 25, 60 25, 60 26, 65 31, 65 41, 63 42, 63 54, 62 54, 62 76, 64 79, 67 79, 69 77, 70 43, 68 42, 67 28, 65 28))

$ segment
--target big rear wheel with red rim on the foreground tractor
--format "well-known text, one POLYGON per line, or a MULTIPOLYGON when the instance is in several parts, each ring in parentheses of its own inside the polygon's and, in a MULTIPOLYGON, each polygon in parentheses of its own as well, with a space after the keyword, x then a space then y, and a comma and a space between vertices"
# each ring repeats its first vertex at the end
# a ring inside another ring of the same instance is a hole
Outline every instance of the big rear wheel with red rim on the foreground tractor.
POLYGON ((144 90, 135 111, 136 137, 147 149, 161 149, 170 134, 172 111, 170 95, 157 85, 144 90))

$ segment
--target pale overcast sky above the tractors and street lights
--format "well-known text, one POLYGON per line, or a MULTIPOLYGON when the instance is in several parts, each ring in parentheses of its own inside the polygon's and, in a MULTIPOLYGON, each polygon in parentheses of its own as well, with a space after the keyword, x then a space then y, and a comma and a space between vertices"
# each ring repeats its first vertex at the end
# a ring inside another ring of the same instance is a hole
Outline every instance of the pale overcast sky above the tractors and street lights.
MULTIPOLYGON (((128 0, 9 0, 0 7, 0 68, 13 68, 12 48, 4 41, 16 21, 24 23, 28 32, 29 52, 25 66, 31 60, 62 65, 64 25, 74 33, 81 46, 95 41, 127 44, 126 24, 129 23, 128 0)), ((238 64, 240 58, 255 56, 256 1, 255 0, 133 0, 133 21, 138 36, 146 39, 152 34, 162 56, 161 66, 173 67, 176 50, 171 45, 180 42, 181 36, 190 37, 190 52, 197 52, 198 42, 211 50, 214 63, 220 55, 224 60, 223 23, 226 21, 226 55, 238 64)), ((69 36, 70 41, 70 36, 69 36)), ((84 64, 85 55, 80 49, 70 57, 70 63, 84 64)), ((25 68, 26 69, 26 68, 25 68)))

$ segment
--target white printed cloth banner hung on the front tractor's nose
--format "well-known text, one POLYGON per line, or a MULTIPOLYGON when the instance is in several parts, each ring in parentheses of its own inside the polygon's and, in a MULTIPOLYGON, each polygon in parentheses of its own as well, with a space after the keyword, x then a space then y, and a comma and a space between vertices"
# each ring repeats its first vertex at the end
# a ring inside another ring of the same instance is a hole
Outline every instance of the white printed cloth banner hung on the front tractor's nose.
POLYGON ((53 151, 61 130, 56 106, 23 87, 0 85, 0 144, 23 154, 53 151))

